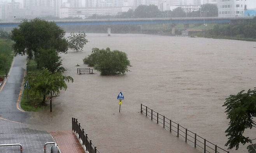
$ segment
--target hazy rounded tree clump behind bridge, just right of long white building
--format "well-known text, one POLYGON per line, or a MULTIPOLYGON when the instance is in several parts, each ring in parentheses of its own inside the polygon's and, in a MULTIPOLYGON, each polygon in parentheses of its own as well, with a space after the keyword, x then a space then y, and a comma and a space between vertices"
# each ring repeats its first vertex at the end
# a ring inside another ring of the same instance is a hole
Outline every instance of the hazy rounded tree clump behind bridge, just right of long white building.
POLYGON ((133 12, 135 18, 158 17, 160 10, 156 5, 139 5, 133 12))

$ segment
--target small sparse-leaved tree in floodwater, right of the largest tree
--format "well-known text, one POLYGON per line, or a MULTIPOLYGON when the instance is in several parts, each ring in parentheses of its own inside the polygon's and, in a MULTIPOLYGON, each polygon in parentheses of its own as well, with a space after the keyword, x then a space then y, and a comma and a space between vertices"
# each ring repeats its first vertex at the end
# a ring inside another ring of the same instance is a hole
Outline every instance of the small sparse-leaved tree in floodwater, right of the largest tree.
POLYGON ((75 49, 77 52, 82 51, 84 45, 88 43, 86 39, 86 34, 84 32, 79 33, 70 33, 70 36, 67 38, 68 47, 70 49, 75 49))

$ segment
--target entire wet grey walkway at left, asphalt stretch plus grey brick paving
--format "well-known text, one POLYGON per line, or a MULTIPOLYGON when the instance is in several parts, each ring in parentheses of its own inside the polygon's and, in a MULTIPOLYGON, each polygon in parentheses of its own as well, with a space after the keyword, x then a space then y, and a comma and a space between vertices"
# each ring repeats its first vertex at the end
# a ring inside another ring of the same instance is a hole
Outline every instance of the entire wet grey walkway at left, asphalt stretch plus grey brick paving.
MULTIPOLYGON (((23 122, 30 118, 30 113, 20 111, 16 106, 25 66, 25 56, 15 57, 10 76, 0 91, 0 144, 20 143, 23 146, 23 153, 43 153, 44 143, 53 142, 53 137, 46 131, 28 128, 23 122)), ((18 146, 0 147, 0 153, 19 151, 18 146)))

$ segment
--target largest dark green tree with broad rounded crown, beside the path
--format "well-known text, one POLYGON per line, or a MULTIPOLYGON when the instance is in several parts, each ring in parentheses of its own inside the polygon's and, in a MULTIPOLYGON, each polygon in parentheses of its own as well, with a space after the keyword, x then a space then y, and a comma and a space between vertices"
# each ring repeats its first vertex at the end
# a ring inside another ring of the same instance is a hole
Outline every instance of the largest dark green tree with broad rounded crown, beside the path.
MULTIPOLYGON (((28 55, 29 59, 37 58, 39 49, 55 49, 66 53, 68 42, 64 38, 65 31, 54 22, 43 19, 23 20, 18 28, 12 30, 11 39, 14 53, 28 55)), ((39 66, 39 65, 38 65, 39 66)))

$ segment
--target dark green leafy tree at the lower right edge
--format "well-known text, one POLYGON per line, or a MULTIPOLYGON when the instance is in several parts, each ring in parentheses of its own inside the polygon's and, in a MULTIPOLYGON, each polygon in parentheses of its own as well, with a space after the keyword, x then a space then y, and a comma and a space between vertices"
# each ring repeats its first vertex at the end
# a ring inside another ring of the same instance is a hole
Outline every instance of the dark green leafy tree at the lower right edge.
POLYGON ((228 142, 225 144, 228 149, 239 148, 239 144, 252 143, 249 137, 243 136, 245 129, 256 127, 253 117, 256 116, 256 88, 238 92, 226 98, 224 105, 227 119, 230 120, 229 127, 226 129, 228 142))

